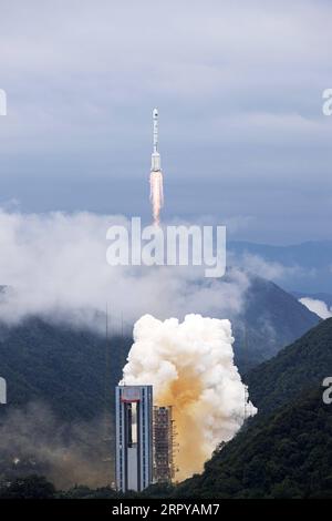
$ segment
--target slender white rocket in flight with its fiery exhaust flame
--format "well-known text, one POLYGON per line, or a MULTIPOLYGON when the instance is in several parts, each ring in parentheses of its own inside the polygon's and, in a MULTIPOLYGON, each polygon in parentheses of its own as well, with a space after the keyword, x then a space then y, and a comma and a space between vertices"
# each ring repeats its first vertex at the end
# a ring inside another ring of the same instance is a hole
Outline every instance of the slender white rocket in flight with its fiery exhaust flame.
POLYGON ((154 149, 151 156, 151 175, 149 175, 149 200, 153 207, 153 217, 155 225, 160 223, 160 210, 164 205, 163 173, 159 154, 159 136, 158 136, 158 109, 153 111, 154 126, 154 149))

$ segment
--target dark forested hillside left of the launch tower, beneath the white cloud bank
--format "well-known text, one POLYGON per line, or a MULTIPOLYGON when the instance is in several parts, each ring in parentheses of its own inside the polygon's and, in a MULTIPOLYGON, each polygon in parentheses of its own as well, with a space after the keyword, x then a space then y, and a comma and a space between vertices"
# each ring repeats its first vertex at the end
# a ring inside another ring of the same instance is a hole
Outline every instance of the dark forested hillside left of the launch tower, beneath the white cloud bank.
POLYGON ((8 406, 43 401, 64 420, 91 419, 110 406, 122 376, 131 338, 106 343, 89 330, 30 318, 15 327, 0 327, 0 375, 8 385, 8 406))

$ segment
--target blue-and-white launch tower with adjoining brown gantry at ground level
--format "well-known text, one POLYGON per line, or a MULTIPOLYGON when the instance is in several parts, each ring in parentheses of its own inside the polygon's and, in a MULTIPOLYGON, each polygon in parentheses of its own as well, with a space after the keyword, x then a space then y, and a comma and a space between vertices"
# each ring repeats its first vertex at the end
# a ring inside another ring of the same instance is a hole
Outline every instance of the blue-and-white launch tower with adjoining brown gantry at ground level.
POLYGON ((172 407, 154 407, 152 386, 117 386, 116 488, 142 491, 175 476, 172 407))

